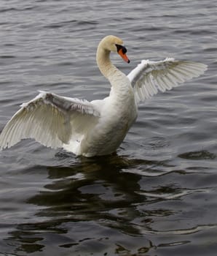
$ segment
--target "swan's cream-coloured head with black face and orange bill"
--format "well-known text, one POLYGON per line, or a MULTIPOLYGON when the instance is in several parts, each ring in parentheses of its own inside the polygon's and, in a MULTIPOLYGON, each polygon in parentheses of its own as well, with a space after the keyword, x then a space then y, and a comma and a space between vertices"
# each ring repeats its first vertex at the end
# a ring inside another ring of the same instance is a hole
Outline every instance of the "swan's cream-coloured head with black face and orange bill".
POLYGON ((114 36, 107 36, 102 39, 100 42, 101 47, 103 47, 105 50, 117 52, 119 56, 122 57, 124 61, 127 63, 130 63, 130 60, 128 59, 126 53, 127 49, 123 45, 122 39, 119 37, 114 37, 114 36))

